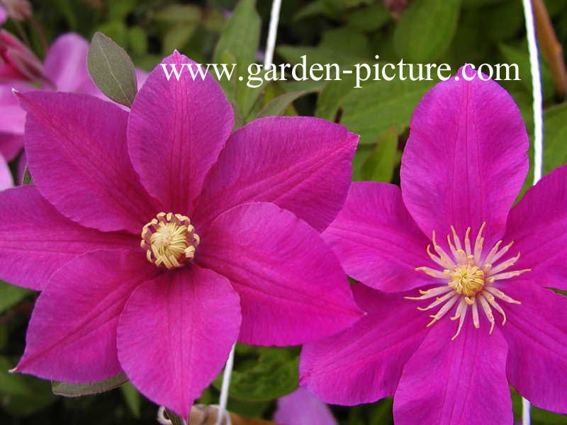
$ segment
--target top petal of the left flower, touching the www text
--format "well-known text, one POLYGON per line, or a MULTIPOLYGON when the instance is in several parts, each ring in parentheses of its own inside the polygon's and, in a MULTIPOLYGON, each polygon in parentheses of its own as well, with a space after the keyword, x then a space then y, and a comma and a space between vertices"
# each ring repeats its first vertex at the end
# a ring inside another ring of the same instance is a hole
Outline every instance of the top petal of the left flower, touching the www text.
MULTIPOLYGON (((194 64, 177 52, 162 63, 194 64)), ((179 81, 167 81, 158 65, 137 94, 128 122, 130 158, 147 191, 168 211, 188 211, 193 218, 193 200, 232 123, 230 103, 210 74, 193 80, 184 68, 179 81)))

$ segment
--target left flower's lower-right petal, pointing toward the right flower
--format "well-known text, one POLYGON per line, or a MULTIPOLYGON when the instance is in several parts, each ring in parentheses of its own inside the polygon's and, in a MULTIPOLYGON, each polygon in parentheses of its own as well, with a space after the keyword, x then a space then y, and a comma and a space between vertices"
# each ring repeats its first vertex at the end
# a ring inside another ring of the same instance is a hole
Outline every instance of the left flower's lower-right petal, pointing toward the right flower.
POLYGON ((226 276, 240 295, 239 341, 246 344, 303 344, 361 316, 318 232, 274 204, 249 203, 219 215, 203 232, 195 259, 226 276))

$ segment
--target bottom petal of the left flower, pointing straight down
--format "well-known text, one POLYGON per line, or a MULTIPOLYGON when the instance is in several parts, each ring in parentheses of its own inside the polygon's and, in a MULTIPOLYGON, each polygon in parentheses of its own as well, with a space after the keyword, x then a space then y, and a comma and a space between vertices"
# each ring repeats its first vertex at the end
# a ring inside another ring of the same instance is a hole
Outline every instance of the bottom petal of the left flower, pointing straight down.
POLYGON ((223 368, 239 327, 228 280, 193 264, 135 290, 118 324, 118 358, 142 394, 187 417, 223 368))

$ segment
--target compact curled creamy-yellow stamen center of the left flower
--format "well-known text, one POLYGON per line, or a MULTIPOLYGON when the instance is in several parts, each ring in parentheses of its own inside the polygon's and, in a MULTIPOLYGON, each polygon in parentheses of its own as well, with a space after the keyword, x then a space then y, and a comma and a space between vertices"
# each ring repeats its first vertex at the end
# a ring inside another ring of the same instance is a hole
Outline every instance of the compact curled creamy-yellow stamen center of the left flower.
POLYGON ((199 236, 189 217, 173 212, 159 212, 142 228, 140 246, 147 261, 167 268, 181 267, 191 261, 199 244, 199 236))

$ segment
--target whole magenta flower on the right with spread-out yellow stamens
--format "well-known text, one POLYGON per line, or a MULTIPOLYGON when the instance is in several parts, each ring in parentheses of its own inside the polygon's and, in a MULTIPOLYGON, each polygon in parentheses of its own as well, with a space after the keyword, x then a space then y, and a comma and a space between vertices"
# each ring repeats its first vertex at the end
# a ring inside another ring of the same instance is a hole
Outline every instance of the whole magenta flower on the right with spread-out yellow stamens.
POLYGON ((398 425, 512 424, 509 382, 567 412, 567 299, 548 289, 567 290, 567 168, 512 208, 527 132, 504 89, 468 77, 417 106, 401 190, 354 183, 325 231, 368 313, 303 348, 301 382, 325 402, 393 396, 398 425))

